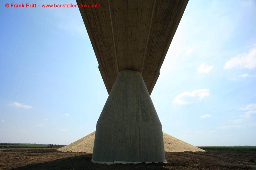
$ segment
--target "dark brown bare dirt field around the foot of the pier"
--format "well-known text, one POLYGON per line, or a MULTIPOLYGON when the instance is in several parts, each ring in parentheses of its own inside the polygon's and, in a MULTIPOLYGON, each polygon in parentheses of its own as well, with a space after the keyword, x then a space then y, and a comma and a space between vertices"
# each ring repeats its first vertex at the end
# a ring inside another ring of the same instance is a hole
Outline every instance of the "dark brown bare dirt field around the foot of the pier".
POLYGON ((255 169, 256 151, 165 152, 167 164, 94 164, 91 153, 0 148, 0 169, 255 169))

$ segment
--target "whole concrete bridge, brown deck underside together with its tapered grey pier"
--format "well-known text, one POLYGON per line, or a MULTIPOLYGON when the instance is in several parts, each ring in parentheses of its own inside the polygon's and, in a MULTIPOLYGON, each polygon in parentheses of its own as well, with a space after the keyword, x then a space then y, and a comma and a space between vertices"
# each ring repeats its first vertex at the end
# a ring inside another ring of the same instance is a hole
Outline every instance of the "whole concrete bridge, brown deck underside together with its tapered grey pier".
POLYGON ((166 162, 150 94, 188 0, 77 0, 109 97, 94 163, 166 162), (92 7, 92 5, 91 5, 92 7))

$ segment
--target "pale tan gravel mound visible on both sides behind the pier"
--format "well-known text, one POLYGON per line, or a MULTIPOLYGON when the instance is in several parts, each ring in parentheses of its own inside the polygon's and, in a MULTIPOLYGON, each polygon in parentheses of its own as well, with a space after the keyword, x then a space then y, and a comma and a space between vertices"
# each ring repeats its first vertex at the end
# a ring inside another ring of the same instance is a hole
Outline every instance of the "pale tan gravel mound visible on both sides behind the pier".
MULTIPOLYGON (((61 152, 93 152, 95 131, 89 135, 67 145, 62 148, 57 149, 61 152)), ((172 137, 166 133, 163 133, 164 137, 164 150, 165 152, 206 152, 200 148, 197 148, 193 145, 190 145, 187 142, 179 140, 175 137, 172 137)))

